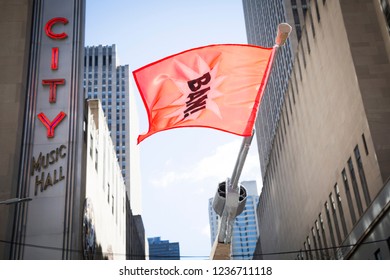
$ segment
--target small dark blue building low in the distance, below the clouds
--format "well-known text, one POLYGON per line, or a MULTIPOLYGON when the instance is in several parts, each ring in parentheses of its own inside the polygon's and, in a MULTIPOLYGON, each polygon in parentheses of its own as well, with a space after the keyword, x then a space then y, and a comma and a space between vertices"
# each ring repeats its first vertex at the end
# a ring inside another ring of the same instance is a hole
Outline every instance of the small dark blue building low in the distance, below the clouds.
POLYGON ((161 240, 160 237, 148 238, 149 260, 180 260, 179 242, 161 240))

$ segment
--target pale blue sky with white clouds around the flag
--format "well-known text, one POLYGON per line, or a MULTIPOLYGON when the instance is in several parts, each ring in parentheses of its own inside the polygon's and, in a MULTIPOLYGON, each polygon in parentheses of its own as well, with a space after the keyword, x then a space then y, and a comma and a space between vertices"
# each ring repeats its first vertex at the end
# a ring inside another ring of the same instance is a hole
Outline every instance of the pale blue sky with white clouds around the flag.
MULTIPOLYGON (((194 47, 246 44, 242 1, 87 0, 85 43, 115 44, 119 63, 131 71, 194 47)), ((146 111, 135 86, 134 94, 140 132, 146 132, 146 111)), ((240 136, 213 129, 180 128, 140 143, 147 237, 180 242, 184 258, 208 258, 208 199, 217 184, 231 176, 241 141, 240 136)), ((241 180, 261 177, 255 142, 241 180)))

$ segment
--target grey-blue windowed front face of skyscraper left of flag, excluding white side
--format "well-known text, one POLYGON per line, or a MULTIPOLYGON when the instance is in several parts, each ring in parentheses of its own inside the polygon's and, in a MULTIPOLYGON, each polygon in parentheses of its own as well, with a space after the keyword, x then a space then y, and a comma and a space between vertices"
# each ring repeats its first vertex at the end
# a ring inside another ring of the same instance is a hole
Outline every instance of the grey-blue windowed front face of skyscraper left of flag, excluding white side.
POLYGON ((129 191, 129 66, 117 65, 115 45, 85 48, 84 88, 87 98, 98 98, 102 102, 122 175, 129 191))

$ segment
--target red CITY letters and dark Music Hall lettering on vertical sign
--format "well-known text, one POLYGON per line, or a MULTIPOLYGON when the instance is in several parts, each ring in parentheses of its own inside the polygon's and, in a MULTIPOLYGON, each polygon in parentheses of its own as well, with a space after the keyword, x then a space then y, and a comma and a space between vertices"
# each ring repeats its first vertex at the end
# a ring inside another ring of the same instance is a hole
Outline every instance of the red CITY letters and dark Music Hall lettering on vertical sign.
MULTIPOLYGON (((51 56, 51 63, 47 65, 52 70, 51 73, 55 74, 56 70, 60 67, 59 61, 59 52, 61 49, 55 44, 60 40, 67 40, 68 35, 66 32, 54 32, 53 27, 55 25, 66 25, 68 24, 68 19, 63 17, 55 17, 46 22, 44 26, 44 31, 46 36, 50 38, 50 41, 53 42, 51 48, 51 53, 43 53, 43 55, 51 56)), ((47 89, 47 92, 38 92, 38 94, 46 94, 47 102, 55 108, 57 103, 57 89, 65 85, 66 80, 61 77, 47 77, 42 79, 43 88, 47 89)), ((46 137, 54 138, 56 128, 61 124, 63 119, 66 117, 66 113, 63 111, 58 112, 58 114, 50 119, 45 112, 40 112, 37 115, 37 118, 41 124, 46 128, 46 137)), ((40 131, 36 130, 36 133, 40 131)), ((49 187, 53 187, 58 182, 65 179, 65 171, 63 166, 61 166, 62 160, 66 157, 67 146, 59 145, 58 147, 49 150, 40 152, 37 155, 34 155, 31 160, 31 176, 35 176, 35 188, 34 195, 38 195, 38 192, 43 192, 49 187), (49 169, 49 167, 52 167, 49 169), (53 170, 54 168, 54 170, 53 170)))

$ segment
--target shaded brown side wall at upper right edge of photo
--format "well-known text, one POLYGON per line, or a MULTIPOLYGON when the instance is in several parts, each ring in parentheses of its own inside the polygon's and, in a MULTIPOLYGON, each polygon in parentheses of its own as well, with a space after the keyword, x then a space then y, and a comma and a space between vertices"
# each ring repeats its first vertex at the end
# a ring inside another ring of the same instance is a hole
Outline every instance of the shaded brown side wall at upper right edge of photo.
MULTIPOLYGON (((364 110, 385 181, 390 176, 390 47, 379 1, 340 1, 364 110)), ((390 5, 390 4, 389 4, 390 5)))

